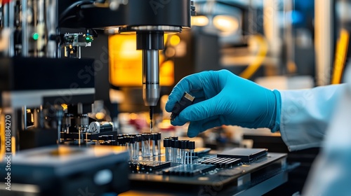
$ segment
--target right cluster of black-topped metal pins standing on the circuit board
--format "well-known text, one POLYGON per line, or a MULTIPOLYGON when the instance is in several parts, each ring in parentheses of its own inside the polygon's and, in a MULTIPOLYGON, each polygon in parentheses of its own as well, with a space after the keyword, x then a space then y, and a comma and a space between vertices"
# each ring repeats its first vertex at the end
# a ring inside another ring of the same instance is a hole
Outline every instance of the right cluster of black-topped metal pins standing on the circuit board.
POLYGON ((192 164, 195 141, 178 140, 178 137, 168 137, 164 139, 166 161, 192 164))

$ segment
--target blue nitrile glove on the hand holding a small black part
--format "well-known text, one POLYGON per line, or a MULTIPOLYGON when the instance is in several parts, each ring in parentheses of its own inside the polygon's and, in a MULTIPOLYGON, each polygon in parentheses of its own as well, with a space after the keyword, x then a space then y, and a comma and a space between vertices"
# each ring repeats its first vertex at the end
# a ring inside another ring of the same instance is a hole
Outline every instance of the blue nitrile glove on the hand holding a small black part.
POLYGON ((171 124, 190 122, 188 137, 220 125, 279 130, 280 93, 230 71, 203 71, 186 76, 173 88, 166 111, 172 111, 184 92, 195 97, 194 103, 181 111, 171 124))

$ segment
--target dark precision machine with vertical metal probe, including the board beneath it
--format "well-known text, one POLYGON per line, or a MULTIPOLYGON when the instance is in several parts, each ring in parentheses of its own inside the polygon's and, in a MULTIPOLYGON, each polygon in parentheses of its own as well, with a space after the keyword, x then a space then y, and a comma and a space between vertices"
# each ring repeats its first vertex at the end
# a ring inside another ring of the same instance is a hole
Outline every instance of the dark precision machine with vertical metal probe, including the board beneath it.
POLYGON ((81 48, 101 31, 133 33, 152 131, 159 50, 164 34, 191 27, 192 1, 0 3, 0 195, 262 195, 287 181, 286 154, 211 154, 156 132, 120 134, 89 116, 100 73, 81 48))

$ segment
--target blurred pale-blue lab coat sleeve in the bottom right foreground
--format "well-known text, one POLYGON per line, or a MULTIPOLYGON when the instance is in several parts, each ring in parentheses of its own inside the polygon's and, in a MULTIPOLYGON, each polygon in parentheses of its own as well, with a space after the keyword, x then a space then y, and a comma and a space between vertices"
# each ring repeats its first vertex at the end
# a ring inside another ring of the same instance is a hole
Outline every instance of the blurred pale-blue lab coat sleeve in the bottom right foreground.
POLYGON ((340 94, 303 195, 351 195, 351 68, 347 71, 347 86, 340 94))

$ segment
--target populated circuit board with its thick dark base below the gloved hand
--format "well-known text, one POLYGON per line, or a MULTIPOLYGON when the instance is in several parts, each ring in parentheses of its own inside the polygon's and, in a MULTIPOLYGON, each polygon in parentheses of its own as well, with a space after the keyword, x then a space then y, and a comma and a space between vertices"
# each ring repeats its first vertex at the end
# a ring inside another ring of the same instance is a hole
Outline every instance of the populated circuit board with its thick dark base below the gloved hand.
POLYGON ((165 151, 177 154, 168 154, 173 160, 166 160, 166 153, 162 153, 128 162, 134 190, 176 193, 181 189, 192 193, 190 195, 199 195, 208 188, 224 190, 230 186, 234 192, 240 192, 264 181, 263 176, 270 179, 286 168, 286 154, 268 153, 264 148, 232 148, 218 154, 197 154, 186 150, 187 153, 182 153, 180 145, 167 150, 168 147, 165 151))

